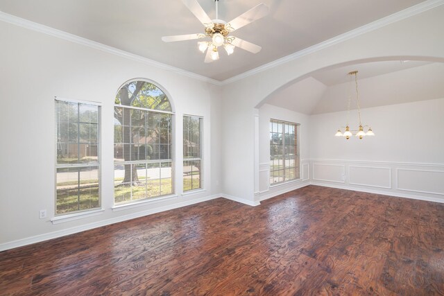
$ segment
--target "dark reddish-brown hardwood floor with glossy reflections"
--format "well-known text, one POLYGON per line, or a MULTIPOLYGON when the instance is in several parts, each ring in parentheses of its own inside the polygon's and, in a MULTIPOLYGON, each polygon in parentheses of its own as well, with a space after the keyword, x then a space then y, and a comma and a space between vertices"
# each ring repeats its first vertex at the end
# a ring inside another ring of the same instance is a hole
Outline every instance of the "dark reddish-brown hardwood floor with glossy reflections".
POLYGON ((1 295, 444 295, 444 204, 307 186, 0 252, 1 295))

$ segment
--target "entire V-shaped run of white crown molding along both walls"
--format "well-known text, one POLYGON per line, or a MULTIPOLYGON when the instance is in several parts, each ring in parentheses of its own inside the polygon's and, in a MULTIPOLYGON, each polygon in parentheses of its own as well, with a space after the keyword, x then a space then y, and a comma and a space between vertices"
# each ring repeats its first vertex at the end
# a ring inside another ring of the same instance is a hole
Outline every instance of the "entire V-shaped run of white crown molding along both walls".
POLYGON ((228 85, 232 82, 247 78, 248 76, 253 76, 262 71, 266 71, 267 69, 271 69, 273 67, 278 67, 280 64, 284 64, 286 62, 290 62, 292 60, 297 60, 305 55, 309 55, 310 53, 315 53, 316 51, 321 51, 322 49, 326 49, 327 47, 333 46, 334 44, 339 44, 344 42, 345 40, 350 40, 353 37, 357 37, 359 35, 363 35, 365 33, 374 31, 378 28, 382 28, 389 24, 393 24, 396 21, 401 21, 402 19, 407 19, 412 17, 413 15, 418 15, 427 10, 431 10, 438 6, 444 4, 444 0, 427 0, 422 3, 417 4, 416 6, 411 6, 400 12, 395 12, 393 15, 388 15, 387 17, 383 17, 382 19, 378 19, 377 21, 373 21, 370 24, 366 24, 359 28, 356 28, 352 31, 348 31, 347 33, 343 33, 336 37, 332 37, 329 40, 325 40, 321 43, 315 44, 314 46, 307 47, 306 49, 302 49, 300 51, 296 51, 296 53, 292 53, 291 55, 287 55, 284 58, 280 58, 278 60, 274 60, 273 62, 269 62, 268 64, 264 64, 255 69, 246 71, 237 76, 233 76, 231 78, 225 80, 216 80, 213 78, 209 78, 197 73, 193 73, 190 71, 186 71, 184 69, 180 69, 178 67, 173 67, 168 64, 163 64, 161 62, 157 62, 155 60, 150 60, 148 58, 144 58, 140 55, 135 55, 134 53, 129 53, 128 51, 122 51, 121 49, 116 49, 112 46, 108 46, 105 44, 101 44, 99 42, 95 42, 92 40, 88 40, 83 37, 79 37, 77 35, 73 35, 67 33, 65 31, 60 31, 56 28, 51 28, 49 26, 44 26, 42 24, 37 24, 33 21, 28 21, 27 19, 22 19, 20 17, 16 17, 14 15, 8 15, 6 12, 0 11, 0 21, 5 21, 7 23, 13 24, 15 26, 21 26, 23 28, 28 28, 33 31, 37 31, 40 33, 44 33, 46 35, 51 35, 53 37, 58 37, 62 40, 67 40, 70 42, 74 42, 77 44, 89 46, 93 49, 98 49, 100 51, 104 51, 106 53, 111 53, 113 55, 118 55, 122 58, 127 58, 128 60, 134 60, 136 62, 142 62, 144 64, 148 64, 153 67, 157 67, 158 69, 163 69, 166 71, 171 71, 173 73, 178 73, 182 76, 187 76, 189 78, 194 78, 196 80, 200 80, 203 82, 209 82, 213 85, 228 85))

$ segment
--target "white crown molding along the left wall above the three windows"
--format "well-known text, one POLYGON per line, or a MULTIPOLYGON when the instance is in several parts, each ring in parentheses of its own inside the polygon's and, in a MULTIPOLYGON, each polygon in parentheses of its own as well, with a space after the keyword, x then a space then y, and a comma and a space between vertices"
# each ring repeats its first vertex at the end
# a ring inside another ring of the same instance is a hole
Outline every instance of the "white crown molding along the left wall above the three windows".
POLYGON ((77 35, 73 35, 67 33, 65 31, 60 31, 56 28, 51 28, 49 26, 44 26, 42 24, 37 24, 33 21, 28 21, 27 19, 22 19, 21 17, 16 17, 15 15, 9 15, 6 12, 0 11, 0 21, 5 21, 9 24, 13 24, 15 26, 20 26, 22 28, 27 28, 29 30, 33 30, 39 33, 44 33, 46 35, 50 35, 56 38, 60 38, 62 40, 67 40, 69 42, 74 42, 80 45, 91 47, 92 49, 98 49, 99 51, 104 51, 106 53, 111 53, 113 55, 117 55, 121 58, 127 58, 128 60, 133 60, 135 62, 142 62, 144 64, 148 64, 150 66, 156 67, 158 69, 171 71, 173 73, 178 73, 182 76, 187 76, 189 78, 194 78, 196 80, 200 80, 203 82, 210 82, 214 85, 221 85, 221 81, 215 80, 203 75, 199 75, 190 71, 186 71, 184 69, 180 69, 177 67, 170 66, 168 64, 163 64, 162 62, 157 62, 155 60, 150 60, 148 58, 144 58, 140 55, 135 55, 134 53, 129 53, 128 51, 122 51, 121 49, 116 49, 115 47, 108 46, 105 44, 101 44, 99 42, 95 42, 83 37, 79 37, 77 35))

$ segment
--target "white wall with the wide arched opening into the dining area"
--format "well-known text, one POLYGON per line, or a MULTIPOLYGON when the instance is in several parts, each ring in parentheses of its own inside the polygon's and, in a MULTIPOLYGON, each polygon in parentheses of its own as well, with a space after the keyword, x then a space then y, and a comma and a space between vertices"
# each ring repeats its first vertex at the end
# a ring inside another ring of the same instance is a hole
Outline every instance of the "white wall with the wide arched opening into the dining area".
MULTIPOLYGON (((225 112, 223 143, 225 193, 254 200, 255 134, 254 109, 268 96, 309 73, 335 65, 355 64, 382 57, 410 57, 410 60, 444 61, 444 6, 414 15, 327 48, 301 55, 275 67, 226 85, 223 89, 225 112)), ((312 147, 313 144, 311 143, 312 147)))

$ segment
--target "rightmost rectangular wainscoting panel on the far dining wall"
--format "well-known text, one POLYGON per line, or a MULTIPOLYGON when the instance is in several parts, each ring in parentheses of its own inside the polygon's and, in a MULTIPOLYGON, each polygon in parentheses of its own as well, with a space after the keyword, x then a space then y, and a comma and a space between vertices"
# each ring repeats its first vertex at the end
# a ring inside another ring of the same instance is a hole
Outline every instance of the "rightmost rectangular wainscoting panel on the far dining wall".
POLYGON ((398 190, 444 195, 444 171, 398 168, 398 190))

